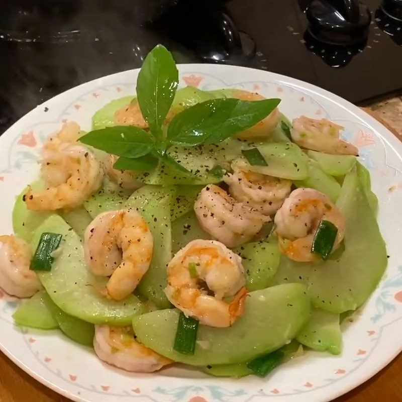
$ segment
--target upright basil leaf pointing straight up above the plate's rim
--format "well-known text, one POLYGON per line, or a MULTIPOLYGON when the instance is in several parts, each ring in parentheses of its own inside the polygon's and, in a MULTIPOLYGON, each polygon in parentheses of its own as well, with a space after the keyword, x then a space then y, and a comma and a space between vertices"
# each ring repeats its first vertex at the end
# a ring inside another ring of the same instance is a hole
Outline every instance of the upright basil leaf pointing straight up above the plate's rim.
POLYGON ((178 71, 170 52, 155 46, 142 63, 137 78, 137 98, 142 116, 156 138, 172 105, 178 85, 178 71))

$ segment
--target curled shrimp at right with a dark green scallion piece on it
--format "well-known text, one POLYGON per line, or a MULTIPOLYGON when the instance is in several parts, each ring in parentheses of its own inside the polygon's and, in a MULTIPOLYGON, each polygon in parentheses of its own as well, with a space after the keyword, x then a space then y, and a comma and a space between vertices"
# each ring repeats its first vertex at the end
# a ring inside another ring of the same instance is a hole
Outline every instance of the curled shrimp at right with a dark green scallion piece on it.
POLYGON ((313 188, 297 188, 285 199, 275 215, 276 233, 282 253, 294 261, 315 261, 311 252, 314 234, 322 219, 338 229, 333 250, 345 236, 342 212, 322 192, 313 188))

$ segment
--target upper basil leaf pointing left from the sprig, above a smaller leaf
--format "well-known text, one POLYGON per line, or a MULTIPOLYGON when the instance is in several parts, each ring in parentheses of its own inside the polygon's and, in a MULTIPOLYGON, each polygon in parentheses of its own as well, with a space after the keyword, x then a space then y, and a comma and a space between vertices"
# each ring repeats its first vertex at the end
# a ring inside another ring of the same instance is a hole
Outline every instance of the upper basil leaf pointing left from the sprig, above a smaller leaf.
POLYGON ((146 155, 153 148, 151 136, 134 126, 114 126, 90 131, 78 141, 110 154, 128 158, 146 155))

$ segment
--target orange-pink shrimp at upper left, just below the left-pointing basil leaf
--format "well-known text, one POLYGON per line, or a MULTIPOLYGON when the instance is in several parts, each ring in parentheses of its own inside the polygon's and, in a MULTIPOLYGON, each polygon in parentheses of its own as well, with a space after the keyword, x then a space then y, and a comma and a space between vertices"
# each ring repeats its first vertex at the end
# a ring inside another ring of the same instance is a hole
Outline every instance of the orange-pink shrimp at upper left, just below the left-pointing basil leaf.
POLYGON ((28 189, 24 197, 28 209, 75 208, 100 187, 103 169, 90 150, 75 142, 78 137, 79 126, 71 122, 45 143, 41 175, 46 188, 37 193, 28 189))

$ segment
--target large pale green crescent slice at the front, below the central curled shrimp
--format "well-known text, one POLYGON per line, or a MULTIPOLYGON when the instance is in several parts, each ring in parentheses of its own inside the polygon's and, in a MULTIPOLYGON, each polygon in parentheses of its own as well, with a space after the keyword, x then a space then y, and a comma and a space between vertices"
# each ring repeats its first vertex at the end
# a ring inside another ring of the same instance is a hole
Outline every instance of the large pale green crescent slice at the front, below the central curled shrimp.
POLYGON ((198 327, 193 355, 173 350, 178 316, 176 309, 168 309, 134 318, 137 339, 174 361, 196 366, 234 364, 276 350, 294 338, 310 316, 310 302, 306 287, 296 283, 253 291, 232 327, 198 327))

